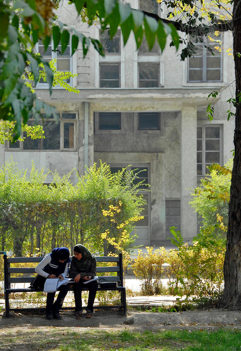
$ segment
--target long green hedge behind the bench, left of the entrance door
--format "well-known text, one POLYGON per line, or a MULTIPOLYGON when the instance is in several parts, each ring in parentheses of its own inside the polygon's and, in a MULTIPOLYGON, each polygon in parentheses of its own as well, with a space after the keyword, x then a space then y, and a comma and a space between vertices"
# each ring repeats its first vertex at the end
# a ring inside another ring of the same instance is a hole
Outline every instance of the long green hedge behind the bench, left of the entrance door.
MULTIPOLYGON (((47 173, 48 174, 48 173, 47 173)), ((138 194, 135 171, 111 173, 110 166, 100 163, 89 167, 84 176, 73 185, 71 173, 62 178, 53 174, 52 184, 44 184, 47 174, 35 170, 30 176, 20 171, 16 163, 7 161, 0 168, 0 242, 2 250, 13 251, 15 256, 37 254, 44 256, 54 247, 75 243, 88 246, 92 252, 111 251, 101 233, 107 229, 110 237, 119 233, 116 223, 127 223, 125 230, 132 233, 135 221, 146 203, 138 194), (130 186, 131 185, 131 186, 130 186), (103 210, 118 206, 116 223, 103 210)), ((128 248, 135 240, 133 235, 125 242, 128 248)))

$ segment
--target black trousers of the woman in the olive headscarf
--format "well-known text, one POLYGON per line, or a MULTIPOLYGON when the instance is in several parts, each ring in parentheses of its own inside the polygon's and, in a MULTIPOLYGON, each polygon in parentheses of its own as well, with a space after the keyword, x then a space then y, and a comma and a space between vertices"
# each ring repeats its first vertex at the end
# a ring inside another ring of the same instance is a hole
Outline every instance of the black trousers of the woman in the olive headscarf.
MULTIPOLYGON (((93 313, 93 305, 95 301, 95 295, 98 287, 98 283, 96 280, 93 282, 90 282, 88 284, 88 289, 89 289, 89 296, 88 296, 88 303, 86 307, 86 311, 93 313)), ((74 300, 75 300, 75 312, 82 312, 82 298, 81 298, 81 292, 82 290, 85 290, 86 285, 83 284, 83 282, 78 282, 73 285, 73 291, 74 291, 74 300)))

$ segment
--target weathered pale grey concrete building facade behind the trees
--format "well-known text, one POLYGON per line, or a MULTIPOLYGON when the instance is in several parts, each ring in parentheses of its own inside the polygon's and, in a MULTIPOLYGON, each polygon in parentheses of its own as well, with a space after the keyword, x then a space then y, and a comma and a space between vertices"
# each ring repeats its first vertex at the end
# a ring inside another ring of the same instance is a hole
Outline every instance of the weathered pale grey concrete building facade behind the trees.
MULTIPOLYGON (((130 3, 134 8, 143 5, 137 0, 130 3)), ((212 122, 206 108, 213 99, 207 99, 210 92, 234 81, 233 57, 223 49, 213 58, 200 44, 196 57, 182 62, 182 47, 175 52, 167 42, 163 53, 156 44, 149 52, 145 39, 136 51, 132 34, 124 47, 120 31, 110 40, 108 30, 100 34, 98 24, 82 24, 67 2, 57 14, 69 27, 100 38, 106 56, 91 47, 83 59, 81 45, 73 57, 68 52, 56 56, 57 69, 78 73, 70 84, 80 93, 55 87, 49 96, 46 84, 39 83, 36 92, 59 111, 59 124, 46 121, 43 141, 1 146, 1 163, 12 156, 20 168, 30 169, 33 160, 36 167, 60 175, 73 168, 82 175, 85 166, 100 160, 113 171, 131 165, 151 185, 136 244, 168 245, 173 225, 191 243, 197 216, 188 204, 190 188, 199 184, 206 165, 224 164, 232 157, 234 121, 228 122, 226 114, 230 90, 213 101, 212 122)), ((232 35, 224 33, 221 40, 222 47, 229 47, 232 35)), ((51 47, 44 54, 53 58, 51 47)))

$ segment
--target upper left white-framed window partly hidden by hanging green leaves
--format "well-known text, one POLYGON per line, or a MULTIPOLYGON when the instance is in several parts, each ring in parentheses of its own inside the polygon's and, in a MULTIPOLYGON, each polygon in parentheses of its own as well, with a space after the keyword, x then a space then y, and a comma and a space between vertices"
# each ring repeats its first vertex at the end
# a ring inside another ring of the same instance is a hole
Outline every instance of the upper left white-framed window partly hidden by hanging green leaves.
MULTIPOLYGON (((53 51, 54 49, 53 39, 51 40, 46 51, 44 49, 44 45, 42 41, 39 41, 38 44, 35 45, 35 49, 36 49, 36 52, 40 53, 42 58, 44 58, 48 62, 53 59, 56 59, 57 61, 55 63, 55 67, 57 71, 62 71, 62 72, 72 71, 71 59, 70 59, 70 55, 71 55, 70 42, 67 45, 63 55, 61 55, 61 51, 62 51, 61 45, 57 47, 56 52, 53 51)), ((70 83, 70 79, 67 79, 66 82, 70 83)), ((41 84, 46 84, 46 82, 44 82, 43 79, 40 79, 39 85, 41 84)))

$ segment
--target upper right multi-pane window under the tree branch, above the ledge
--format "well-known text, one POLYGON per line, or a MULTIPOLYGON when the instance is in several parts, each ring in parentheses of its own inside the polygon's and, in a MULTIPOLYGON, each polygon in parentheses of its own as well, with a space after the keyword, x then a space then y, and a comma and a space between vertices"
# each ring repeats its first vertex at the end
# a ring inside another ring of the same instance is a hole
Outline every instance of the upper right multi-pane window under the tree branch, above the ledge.
POLYGON ((222 53, 215 49, 217 41, 220 37, 214 36, 211 40, 204 38, 203 43, 195 44, 198 51, 194 57, 188 58, 188 82, 222 81, 222 53), (214 55, 205 46, 211 48, 214 55))

